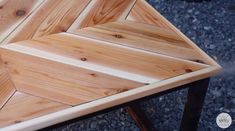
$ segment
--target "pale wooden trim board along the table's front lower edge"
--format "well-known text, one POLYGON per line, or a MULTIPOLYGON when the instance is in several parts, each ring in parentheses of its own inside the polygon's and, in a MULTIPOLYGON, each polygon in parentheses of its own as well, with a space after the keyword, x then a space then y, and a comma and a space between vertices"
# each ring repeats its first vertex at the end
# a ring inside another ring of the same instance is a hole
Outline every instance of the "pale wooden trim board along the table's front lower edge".
POLYGON ((129 101, 133 101, 145 96, 153 95, 158 92, 172 89, 181 85, 188 84, 190 82, 208 78, 220 71, 221 68, 212 66, 199 71, 195 71, 189 74, 183 74, 181 76, 173 77, 167 80, 162 80, 147 86, 133 89, 131 91, 119 93, 102 99, 98 99, 89 103, 85 103, 79 106, 75 106, 63 111, 59 111, 53 114, 42 116, 40 118, 32 119, 31 121, 25 121, 20 124, 13 125, 11 127, 3 128, 4 130, 37 130, 43 127, 61 123, 63 121, 71 120, 77 117, 81 117, 93 112, 104 110, 116 105, 120 105, 129 101))

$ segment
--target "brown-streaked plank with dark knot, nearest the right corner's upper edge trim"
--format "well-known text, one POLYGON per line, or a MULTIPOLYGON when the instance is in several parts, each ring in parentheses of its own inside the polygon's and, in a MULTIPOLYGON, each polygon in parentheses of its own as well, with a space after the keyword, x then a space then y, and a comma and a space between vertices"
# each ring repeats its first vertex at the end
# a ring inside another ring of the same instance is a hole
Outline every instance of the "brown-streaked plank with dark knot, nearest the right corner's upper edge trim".
POLYGON ((133 22, 114 22, 83 28, 72 33, 171 57, 196 62, 204 61, 204 57, 196 50, 188 47, 187 43, 177 44, 173 41, 175 35, 172 31, 155 26, 146 26, 145 24, 133 22), (171 40, 168 40, 169 38, 171 40))

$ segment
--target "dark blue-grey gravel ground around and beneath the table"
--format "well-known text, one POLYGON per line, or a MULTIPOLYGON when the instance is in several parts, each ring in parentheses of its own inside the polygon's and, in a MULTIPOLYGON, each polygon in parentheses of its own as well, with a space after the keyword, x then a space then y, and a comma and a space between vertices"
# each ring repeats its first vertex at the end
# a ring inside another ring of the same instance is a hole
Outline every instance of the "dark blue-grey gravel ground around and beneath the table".
MULTIPOLYGON (((181 0, 149 0, 169 21, 217 60, 224 72, 211 79, 199 131, 220 131, 216 117, 229 113, 235 131, 235 0, 211 0, 187 3, 181 0)), ((187 90, 182 90, 140 103, 142 110, 159 131, 178 130, 187 90)), ((131 130, 138 131, 125 109, 95 116, 53 131, 131 130)))

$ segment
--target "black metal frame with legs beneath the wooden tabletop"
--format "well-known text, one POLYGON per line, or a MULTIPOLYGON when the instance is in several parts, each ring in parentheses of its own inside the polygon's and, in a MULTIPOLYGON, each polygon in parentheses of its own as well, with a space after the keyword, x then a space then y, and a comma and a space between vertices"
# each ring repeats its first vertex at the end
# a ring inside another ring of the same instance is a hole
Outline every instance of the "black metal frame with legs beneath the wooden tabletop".
POLYGON ((54 129, 57 127, 65 126, 69 123, 84 120, 84 119, 87 119, 96 115, 100 115, 100 114, 107 113, 107 112, 124 107, 124 108, 127 108, 128 113, 130 114, 130 116, 133 118, 133 120, 136 122, 136 124, 139 126, 139 128, 142 131, 156 131, 157 129, 154 128, 153 124, 148 120, 148 118, 144 115, 144 113, 141 110, 139 110, 138 102, 142 102, 147 99, 156 98, 164 94, 168 94, 174 91, 188 88, 187 100, 185 103, 184 113, 183 113, 183 117, 181 120, 180 131, 196 131, 199 120, 200 120, 200 115, 201 115, 204 99, 205 99, 207 89, 209 86, 209 81, 210 81, 210 78, 202 79, 202 80, 192 82, 183 86, 179 86, 179 87, 167 90, 167 91, 156 93, 151 96, 147 96, 138 100, 134 100, 128 103, 117 105, 117 106, 114 106, 105 110, 91 113, 91 114, 88 114, 88 115, 85 115, 76 119, 72 119, 63 123, 59 123, 50 127, 46 127, 41 130, 50 130, 50 129, 54 129))

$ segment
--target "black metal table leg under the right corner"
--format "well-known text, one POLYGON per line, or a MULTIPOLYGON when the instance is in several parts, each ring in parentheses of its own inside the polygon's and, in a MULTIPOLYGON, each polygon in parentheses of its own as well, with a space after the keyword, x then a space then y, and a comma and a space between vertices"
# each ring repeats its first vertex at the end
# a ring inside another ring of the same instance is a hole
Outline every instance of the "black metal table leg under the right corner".
POLYGON ((180 131, 196 131, 210 79, 189 84, 180 131))

